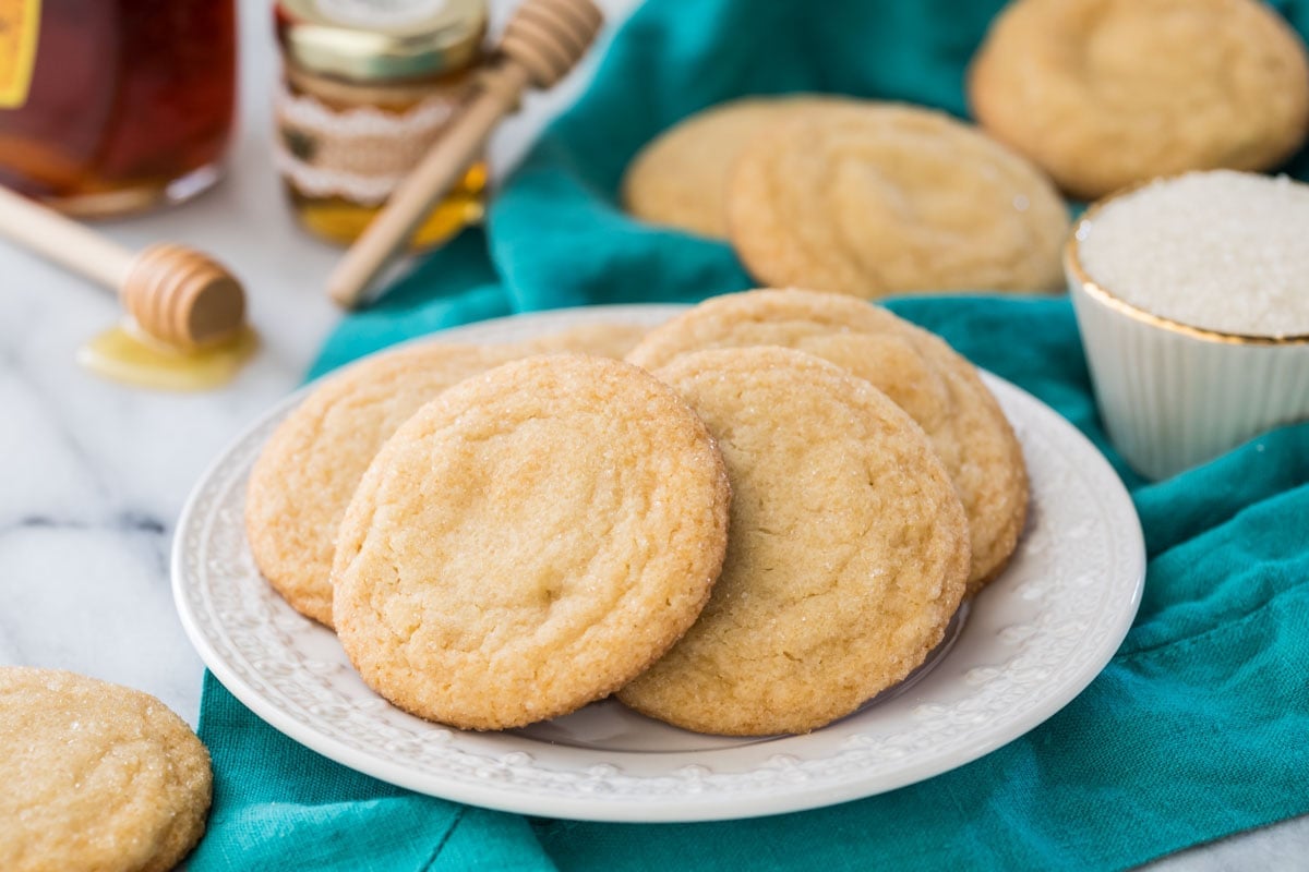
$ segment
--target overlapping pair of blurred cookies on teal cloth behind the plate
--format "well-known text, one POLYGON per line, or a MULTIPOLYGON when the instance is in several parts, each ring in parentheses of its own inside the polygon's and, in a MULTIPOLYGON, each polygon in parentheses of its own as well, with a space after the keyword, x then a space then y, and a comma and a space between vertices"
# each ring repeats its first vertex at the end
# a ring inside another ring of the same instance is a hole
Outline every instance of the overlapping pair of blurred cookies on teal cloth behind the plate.
POLYGON ((761 284, 874 299, 1062 282, 1063 201, 1025 158, 928 109, 751 98, 685 119, 623 179, 635 217, 728 238, 761 284))

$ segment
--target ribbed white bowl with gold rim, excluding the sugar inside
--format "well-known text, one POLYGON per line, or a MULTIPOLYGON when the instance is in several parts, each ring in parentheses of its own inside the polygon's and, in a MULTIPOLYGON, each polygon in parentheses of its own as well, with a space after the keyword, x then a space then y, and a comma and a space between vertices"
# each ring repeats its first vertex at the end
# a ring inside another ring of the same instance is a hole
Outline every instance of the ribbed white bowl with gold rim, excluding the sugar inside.
POLYGON ((1064 272, 1096 401, 1127 463, 1149 478, 1166 478, 1280 424, 1309 418, 1309 336, 1190 327, 1124 302, 1086 275, 1079 243, 1113 199, 1093 205, 1075 226, 1064 272))

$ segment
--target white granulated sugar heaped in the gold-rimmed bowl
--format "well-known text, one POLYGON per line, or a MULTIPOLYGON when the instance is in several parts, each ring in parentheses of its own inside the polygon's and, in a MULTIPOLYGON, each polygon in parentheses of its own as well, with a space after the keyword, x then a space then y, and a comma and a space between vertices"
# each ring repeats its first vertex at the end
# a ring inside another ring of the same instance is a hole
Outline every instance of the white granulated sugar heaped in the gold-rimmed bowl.
POLYGON ((1219 170, 1123 195, 1077 230, 1081 265, 1182 324, 1309 335, 1309 184, 1219 170))

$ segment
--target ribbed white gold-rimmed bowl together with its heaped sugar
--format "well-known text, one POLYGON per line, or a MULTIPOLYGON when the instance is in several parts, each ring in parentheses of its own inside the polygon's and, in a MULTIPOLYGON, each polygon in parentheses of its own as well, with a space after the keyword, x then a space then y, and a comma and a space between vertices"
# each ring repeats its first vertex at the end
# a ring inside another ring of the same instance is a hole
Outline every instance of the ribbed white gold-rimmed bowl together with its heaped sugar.
POLYGON ((1064 267, 1105 428, 1139 472, 1309 418, 1309 184, 1152 182, 1088 209, 1064 267))

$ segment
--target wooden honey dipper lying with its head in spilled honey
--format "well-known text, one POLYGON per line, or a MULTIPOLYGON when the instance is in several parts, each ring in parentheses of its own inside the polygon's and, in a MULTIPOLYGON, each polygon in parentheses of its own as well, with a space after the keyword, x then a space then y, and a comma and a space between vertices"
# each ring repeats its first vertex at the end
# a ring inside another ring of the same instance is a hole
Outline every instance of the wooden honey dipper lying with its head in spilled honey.
POLYGON ((0 235, 117 290, 145 333, 178 350, 219 345, 245 326, 241 284, 191 248, 160 243, 132 252, 5 188, 0 235))

